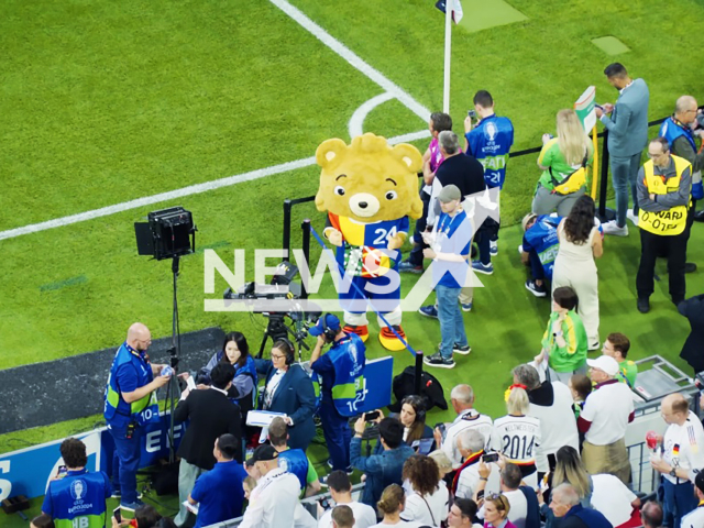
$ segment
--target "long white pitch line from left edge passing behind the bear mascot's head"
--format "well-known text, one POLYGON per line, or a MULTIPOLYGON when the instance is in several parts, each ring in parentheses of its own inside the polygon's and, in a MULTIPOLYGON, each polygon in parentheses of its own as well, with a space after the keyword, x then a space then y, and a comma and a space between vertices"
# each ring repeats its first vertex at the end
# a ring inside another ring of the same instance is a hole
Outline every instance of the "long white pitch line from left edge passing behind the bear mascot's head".
MULTIPOLYGON (((396 145, 398 143, 405 143, 407 141, 428 138, 429 134, 430 133, 427 130, 421 130, 419 132, 389 138, 388 143, 392 145, 396 145)), ((296 160, 294 162, 282 163, 280 165, 274 165, 271 167, 257 168, 256 170, 250 170, 249 173, 238 174, 235 176, 229 176, 227 178, 220 178, 213 182, 189 185, 188 187, 182 187, 180 189, 160 193, 158 195, 145 196, 144 198, 138 198, 135 200, 123 201, 122 204, 116 204, 114 206, 102 207, 100 209, 94 209, 91 211, 79 212, 78 215, 70 215, 68 217, 47 220, 46 222, 32 223, 22 228, 0 231, 0 240, 14 239, 16 237, 22 237, 23 234, 37 233, 40 231, 46 231, 48 229, 70 226, 72 223, 79 223, 88 220, 94 220, 96 218, 108 217, 110 215, 129 211, 131 209, 138 209, 144 206, 151 206, 152 204, 158 204, 161 201, 174 200, 176 198, 183 198, 185 196, 199 195, 208 190, 230 187, 232 185, 242 184, 244 182, 252 182, 254 179, 265 178, 275 174, 287 173, 297 168, 309 167, 315 164, 316 158, 314 156, 304 157, 302 160, 296 160)))

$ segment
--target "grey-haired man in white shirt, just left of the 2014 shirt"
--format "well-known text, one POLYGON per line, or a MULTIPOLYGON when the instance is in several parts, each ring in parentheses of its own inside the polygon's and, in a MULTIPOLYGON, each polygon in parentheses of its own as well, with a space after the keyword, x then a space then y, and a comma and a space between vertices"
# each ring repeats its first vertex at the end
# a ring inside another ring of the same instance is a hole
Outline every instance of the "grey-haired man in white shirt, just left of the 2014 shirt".
POLYGON ((457 385, 450 393, 450 403, 458 414, 452 424, 446 425, 444 435, 439 428, 435 430, 436 444, 444 451, 452 462, 452 469, 462 465, 462 454, 458 447, 458 436, 465 429, 476 429, 484 436, 488 446, 494 432, 494 422, 491 417, 482 415, 474 408, 474 391, 469 385, 457 385))

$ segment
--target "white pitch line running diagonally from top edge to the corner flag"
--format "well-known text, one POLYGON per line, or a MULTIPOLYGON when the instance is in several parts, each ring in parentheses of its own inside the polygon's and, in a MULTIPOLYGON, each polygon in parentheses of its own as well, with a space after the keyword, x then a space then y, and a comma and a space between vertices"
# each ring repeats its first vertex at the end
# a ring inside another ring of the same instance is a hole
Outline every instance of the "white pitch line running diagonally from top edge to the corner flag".
POLYGON ((332 50, 334 53, 344 58, 350 65, 371 80, 381 86, 384 91, 392 94, 396 99, 398 99, 406 108, 408 108, 411 112, 418 116, 424 121, 428 121, 430 118, 430 110, 416 101, 408 92, 406 92, 398 85, 387 79, 381 72, 370 66, 365 63, 359 55, 356 55, 352 50, 346 47, 340 41, 334 38, 330 33, 323 30, 321 26, 316 24, 312 20, 310 20, 302 11, 298 8, 293 7, 286 0, 270 0, 274 6, 284 11, 288 16, 294 19, 300 25, 302 25, 309 33, 311 33, 316 38, 322 42, 326 46, 332 50))

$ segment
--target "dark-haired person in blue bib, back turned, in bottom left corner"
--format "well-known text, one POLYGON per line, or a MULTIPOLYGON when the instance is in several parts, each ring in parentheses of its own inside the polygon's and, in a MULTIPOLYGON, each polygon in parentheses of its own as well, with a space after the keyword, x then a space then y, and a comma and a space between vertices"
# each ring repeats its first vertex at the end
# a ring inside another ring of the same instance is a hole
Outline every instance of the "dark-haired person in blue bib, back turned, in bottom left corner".
POLYGON ((56 528, 103 528, 106 499, 112 494, 108 475, 86 470, 86 444, 77 438, 64 440, 59 451, 66 474, 48 483, 42 513, 52 517, 56 528))

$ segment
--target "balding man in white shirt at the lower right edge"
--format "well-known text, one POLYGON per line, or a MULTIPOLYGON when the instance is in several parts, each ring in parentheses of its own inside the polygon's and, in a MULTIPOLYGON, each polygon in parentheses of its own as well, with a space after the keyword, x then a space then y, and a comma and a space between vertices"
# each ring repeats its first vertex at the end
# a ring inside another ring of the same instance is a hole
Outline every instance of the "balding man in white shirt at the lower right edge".
POLYGON ((659 439, 662 455, 653 457, 650 463, 662 474, 662 525, 678 527, 682 517, 696 508, 693 482, 704 468, 704 428, 681 394, 666 396, 660 410, 668 429, 659 439))

